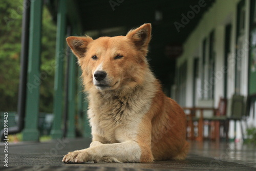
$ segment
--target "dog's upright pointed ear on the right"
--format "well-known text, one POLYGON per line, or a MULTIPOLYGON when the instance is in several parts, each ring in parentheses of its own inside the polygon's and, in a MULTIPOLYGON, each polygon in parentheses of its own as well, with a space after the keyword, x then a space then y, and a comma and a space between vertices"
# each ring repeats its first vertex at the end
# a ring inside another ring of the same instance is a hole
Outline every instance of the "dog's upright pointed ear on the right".
POLYGON ((151 24, 144 24, 137 29, 129 31, 126 37, 134 42, 138 50, 147 50, 151 39, 151 24))

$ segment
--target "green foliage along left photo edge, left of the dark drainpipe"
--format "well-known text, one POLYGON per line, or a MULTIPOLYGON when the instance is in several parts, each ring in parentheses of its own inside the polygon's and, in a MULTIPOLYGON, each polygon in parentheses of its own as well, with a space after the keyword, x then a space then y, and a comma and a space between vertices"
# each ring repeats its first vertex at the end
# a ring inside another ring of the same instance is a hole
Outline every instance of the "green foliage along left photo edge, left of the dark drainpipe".
POLYGON ((0 111, 16 111, 23 1, 0 3, 0 111))

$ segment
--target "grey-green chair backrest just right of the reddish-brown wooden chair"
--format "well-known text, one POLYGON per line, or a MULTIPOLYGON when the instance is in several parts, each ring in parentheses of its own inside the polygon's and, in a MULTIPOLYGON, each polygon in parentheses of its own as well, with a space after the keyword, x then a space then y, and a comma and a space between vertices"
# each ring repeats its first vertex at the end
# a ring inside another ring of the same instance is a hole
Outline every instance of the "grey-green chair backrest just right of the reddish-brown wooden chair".
POLYGON ((231 118, 242 119, 242 116, 245 115, 244 96, 234 94, 231 103, 231 118))

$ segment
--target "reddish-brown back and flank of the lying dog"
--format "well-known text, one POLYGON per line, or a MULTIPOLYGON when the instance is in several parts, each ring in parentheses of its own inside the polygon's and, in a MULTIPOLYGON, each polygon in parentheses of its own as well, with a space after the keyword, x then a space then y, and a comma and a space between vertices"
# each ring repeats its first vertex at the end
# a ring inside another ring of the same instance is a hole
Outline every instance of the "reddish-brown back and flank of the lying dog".
MULTIPOLYGON (((185 139, 186 116, 176 101, 164 95, 157 80, 153 84, 157 91, 140 126, 148 127, 146 130, 151 134, 154 160, 185 159, 189 151, 185 139)), ((146 140, 145 130, 140 134, 138 141, 143 144, 146 140)))

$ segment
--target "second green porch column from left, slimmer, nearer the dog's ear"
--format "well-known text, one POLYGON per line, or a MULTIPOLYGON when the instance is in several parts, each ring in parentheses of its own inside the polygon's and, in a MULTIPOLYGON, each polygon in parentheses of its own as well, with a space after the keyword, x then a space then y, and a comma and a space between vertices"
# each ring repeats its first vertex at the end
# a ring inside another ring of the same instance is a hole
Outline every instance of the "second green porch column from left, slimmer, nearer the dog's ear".
POLYGON ((58 0, 57 13, 57 38, 56 38, 56 60, 54 79, 54 101, 53 101, 53 127, 52 138, 61 138, 62 108, 63 108, 63 60, 66 52, 66 11, 67 1, 58 0))

